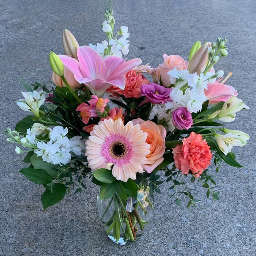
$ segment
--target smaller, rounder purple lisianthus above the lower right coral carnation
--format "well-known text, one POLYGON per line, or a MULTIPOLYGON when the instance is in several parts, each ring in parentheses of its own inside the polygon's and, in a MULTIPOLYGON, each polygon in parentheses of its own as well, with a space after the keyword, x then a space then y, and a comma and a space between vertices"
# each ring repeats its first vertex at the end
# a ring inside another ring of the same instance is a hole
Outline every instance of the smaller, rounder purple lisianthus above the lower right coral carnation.
POLYGON ((193 124, 191 113, 187 108, 179 107, 172 113, 172 121, 174 127, 179 130, 189 129, 193 124))

